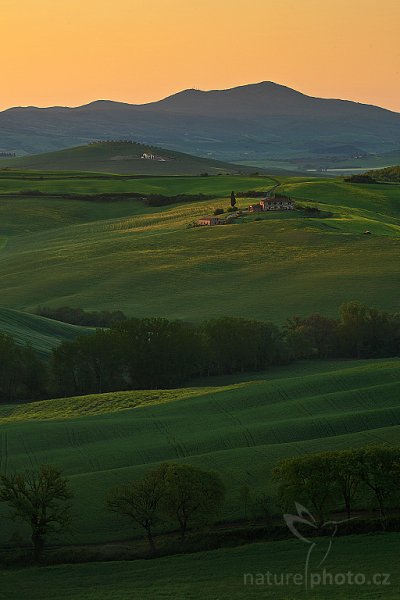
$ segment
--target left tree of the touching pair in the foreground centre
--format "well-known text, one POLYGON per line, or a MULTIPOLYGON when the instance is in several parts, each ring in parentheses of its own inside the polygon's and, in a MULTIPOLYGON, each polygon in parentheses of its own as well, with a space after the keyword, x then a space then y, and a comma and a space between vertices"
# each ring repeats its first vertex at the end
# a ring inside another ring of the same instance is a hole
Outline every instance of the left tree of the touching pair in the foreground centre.
POLYGON ((145 529, 152 554, 156 552, 153 527, 158 520, 159 505, 164 494, 166 468, 166 465, 161 465, 142 479, 115 488, 106 504, 108 510, 128 517, 145 529))

